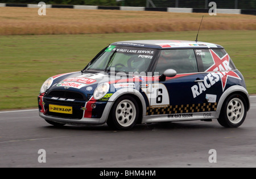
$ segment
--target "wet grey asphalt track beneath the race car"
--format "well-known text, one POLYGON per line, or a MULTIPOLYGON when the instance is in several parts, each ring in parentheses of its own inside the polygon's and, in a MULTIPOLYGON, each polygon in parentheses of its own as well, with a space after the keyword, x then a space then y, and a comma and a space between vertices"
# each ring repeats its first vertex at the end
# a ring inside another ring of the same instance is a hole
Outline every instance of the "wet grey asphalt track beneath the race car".
POLYGON ((0 112, 0 167, 254 168, 256 96, 250 101, 246 120, 236 129, 216 120, 137 125, 130 131, 108 126, 58 128, 48 125, 35 109, 0 112), (39 163, 40 149, 45 151, 45 163, 39 163), (211 149, 216 151, 216 163, 209 162, 211 149))

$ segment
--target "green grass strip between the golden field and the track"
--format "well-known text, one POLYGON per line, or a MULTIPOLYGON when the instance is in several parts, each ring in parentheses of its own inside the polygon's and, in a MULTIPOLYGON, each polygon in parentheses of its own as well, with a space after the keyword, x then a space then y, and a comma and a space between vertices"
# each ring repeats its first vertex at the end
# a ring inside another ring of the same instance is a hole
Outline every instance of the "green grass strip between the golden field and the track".
MULTIPOLYGON (((102 48, 115 41, 139 39, 195 40, 195 31, 109 33, 93 35, 0 36, 0 110, 36 108, 49 76, 80 71, 102 48)), ((256 31, 201 31, 199 41, 224 46, 256 93, 256 31)))

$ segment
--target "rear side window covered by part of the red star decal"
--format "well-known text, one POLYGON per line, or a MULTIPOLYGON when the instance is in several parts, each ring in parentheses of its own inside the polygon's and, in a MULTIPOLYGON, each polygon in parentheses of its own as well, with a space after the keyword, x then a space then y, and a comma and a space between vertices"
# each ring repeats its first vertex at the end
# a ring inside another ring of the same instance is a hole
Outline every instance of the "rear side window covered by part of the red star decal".
POLYGON ((202 71, 234 70, 232 60, 224 49, 196 49, 196 58, 201 59, 202 71))

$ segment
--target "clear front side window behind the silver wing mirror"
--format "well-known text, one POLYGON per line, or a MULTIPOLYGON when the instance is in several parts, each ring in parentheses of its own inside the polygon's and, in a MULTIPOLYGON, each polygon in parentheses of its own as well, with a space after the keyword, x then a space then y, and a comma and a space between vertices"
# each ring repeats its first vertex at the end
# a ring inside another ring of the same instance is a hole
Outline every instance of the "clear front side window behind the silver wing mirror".
POLYGON ((197 72, 196 57, 193 49, 162 50, 155 72, 161 75, 167 69, 174 69, 177 74, 197 72))

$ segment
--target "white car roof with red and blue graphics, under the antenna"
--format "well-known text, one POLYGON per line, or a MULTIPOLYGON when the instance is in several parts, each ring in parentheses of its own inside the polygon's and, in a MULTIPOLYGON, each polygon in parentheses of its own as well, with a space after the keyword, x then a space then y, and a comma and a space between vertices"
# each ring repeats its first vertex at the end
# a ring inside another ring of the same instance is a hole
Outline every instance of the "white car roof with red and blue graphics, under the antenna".
POLYGON ((212 44, 209 42, 201 41, 187 41, 187 40, 130 40, 130 41, 118 41, 111 45, 119 46, 135 46, 143 48, 154 48, 154 49, 223 49, 222 46, 212 44))

